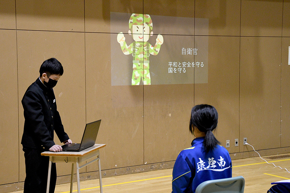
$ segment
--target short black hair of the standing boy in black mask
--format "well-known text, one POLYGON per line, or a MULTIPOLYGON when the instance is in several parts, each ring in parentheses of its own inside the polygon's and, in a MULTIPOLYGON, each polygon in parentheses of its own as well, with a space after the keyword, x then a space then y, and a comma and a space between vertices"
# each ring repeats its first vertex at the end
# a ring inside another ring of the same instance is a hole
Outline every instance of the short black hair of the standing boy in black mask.
POLYGON ((62 67, 61 63, 55 58, 49 58, 45 60, 39 69, 39 74, 42 76, 43 73, 46 73, 47 76, 52 74, 57 74, 62 76, 64 73, 64 68, 62 67))

